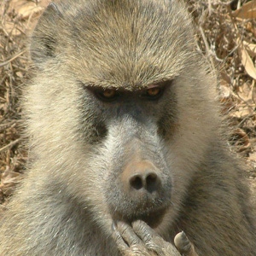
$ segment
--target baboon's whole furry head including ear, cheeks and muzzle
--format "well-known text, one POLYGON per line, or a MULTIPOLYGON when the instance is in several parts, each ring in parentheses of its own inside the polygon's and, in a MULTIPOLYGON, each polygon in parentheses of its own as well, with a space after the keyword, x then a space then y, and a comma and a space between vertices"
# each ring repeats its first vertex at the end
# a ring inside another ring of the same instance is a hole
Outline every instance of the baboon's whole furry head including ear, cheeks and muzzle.
POLYGON ((51 4, 32 34, 34 150, 105 230, 143 219, 165 233, 217 130, 180 2, 51 4))

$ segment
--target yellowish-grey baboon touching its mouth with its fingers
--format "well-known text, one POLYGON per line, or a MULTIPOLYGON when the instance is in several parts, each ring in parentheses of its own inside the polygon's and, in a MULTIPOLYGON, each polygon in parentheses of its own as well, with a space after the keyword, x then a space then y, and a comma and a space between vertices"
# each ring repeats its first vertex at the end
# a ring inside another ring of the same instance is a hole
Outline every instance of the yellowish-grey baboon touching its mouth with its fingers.
POLYGON ((1 256, 256 255, 244 167, 182 1, 51 3, 30 49, 30 157, 1 256))

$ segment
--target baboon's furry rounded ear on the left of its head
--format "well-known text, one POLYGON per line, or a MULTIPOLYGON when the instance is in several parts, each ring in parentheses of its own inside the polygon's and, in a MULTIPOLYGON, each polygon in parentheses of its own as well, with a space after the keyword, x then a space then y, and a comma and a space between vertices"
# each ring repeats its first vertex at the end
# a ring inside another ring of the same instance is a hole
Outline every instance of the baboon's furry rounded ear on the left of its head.
POLYGON ((55 57, 57 26, 61 12, 55 3, 50 3, 32 32, 30 52, 32 61, 39 66, 49 58, 55 57))

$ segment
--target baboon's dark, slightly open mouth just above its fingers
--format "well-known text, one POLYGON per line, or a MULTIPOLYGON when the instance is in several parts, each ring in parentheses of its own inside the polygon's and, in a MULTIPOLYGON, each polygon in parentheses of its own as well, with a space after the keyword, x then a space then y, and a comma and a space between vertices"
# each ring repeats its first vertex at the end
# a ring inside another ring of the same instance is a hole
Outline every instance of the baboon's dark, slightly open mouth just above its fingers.
POLYGON ((154 229, 160 225, 165 216, 165 213, 166 208, 158 209, 157 211, 154 212, 133 215, 131 217, 120 216, 120 214, 117 214, 114 219, 125 221, 128 224, 131 224, 135 220, 143 220, 146 224, 148 224, 151 228, 154 229))

